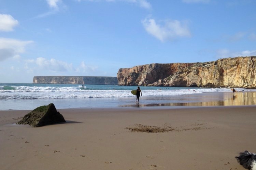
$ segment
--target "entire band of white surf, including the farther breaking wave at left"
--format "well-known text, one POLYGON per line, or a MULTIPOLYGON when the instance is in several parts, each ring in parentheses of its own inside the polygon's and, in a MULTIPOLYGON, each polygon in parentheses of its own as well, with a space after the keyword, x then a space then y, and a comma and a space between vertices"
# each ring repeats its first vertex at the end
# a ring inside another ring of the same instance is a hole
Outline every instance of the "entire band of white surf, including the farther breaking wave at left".
MULTIPOLYGON (((82 86, 0 86, 0 99, 73 99, 132 97, 136 87, 98 85, 82 89, 82 86), (98 88, 98 89, 97 89, 98 88), (115 89, 117 88, 117 89, 115 89)), ((179 88, 142 87, 143 96, 177 96, 204 92, 225 92, 230 88, 179 88)), ((246 89, 239 89, 240 91, 246 89)))

